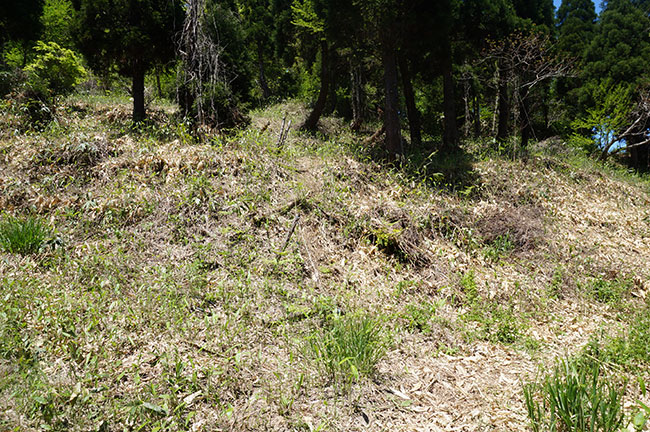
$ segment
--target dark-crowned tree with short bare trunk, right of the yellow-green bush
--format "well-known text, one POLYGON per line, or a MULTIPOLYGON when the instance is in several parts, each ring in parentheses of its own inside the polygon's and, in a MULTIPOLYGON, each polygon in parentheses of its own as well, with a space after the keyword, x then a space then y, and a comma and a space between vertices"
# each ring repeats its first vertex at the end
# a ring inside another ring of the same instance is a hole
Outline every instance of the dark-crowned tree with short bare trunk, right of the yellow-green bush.
POLYGON ((144 77, 174 58, 174 35, 183 22, 180 0, 82 0, 78 46, 99 72, 112 67, 132 79, 133 121, 146 117, 144 77))

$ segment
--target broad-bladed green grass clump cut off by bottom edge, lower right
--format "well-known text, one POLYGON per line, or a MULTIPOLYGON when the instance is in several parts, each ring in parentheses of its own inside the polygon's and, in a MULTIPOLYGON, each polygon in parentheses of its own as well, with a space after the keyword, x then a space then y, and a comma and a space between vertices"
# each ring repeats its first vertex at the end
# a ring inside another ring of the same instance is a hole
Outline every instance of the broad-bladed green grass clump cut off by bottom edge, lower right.
POLYGON ((560 361, 541 382, 524 386, 534 432, 617 432, 625 418, 624 393, 597 365, 571 359, 560 361))

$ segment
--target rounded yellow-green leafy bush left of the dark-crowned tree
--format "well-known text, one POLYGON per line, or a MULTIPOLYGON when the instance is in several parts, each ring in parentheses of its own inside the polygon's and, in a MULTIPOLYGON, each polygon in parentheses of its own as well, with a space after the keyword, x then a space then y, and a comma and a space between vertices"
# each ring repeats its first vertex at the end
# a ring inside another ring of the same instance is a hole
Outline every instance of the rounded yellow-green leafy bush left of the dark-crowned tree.
POLYGON ((38 41, 37 55, 25 68, 31 87, 42 94, 70 93, 86 77, 86 70, 77 55, 56 42, 38 41))

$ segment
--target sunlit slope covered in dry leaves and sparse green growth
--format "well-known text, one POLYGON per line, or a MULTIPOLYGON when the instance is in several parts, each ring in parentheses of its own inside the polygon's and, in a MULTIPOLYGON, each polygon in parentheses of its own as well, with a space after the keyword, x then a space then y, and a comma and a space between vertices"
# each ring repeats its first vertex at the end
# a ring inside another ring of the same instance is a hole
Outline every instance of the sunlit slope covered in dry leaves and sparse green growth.
POLYGON ((52 230, 0 252, 0 430, 529 430, 523 385, 594 352, 650 402, 648 180, 551 141, 389 169, 331 118, 278 146, 304 111, 0 118, 0 209, 52 230))

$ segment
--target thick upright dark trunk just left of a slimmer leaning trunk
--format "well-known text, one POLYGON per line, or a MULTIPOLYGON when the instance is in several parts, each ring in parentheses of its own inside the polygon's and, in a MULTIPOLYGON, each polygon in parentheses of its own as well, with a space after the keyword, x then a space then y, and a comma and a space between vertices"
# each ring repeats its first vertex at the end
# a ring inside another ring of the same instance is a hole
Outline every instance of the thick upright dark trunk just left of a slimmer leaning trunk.
POLYGON ((384 126, 386 127, 386 151, 389 158, 394 159, 401 155, 402 133, 399 124, 398 110, 398 79, 397 61, 395 55, 395 41, 391 32, 386 31, 382 37, 382 63, 384 66, 384 89, 386 103, 384 107, 384 126))

